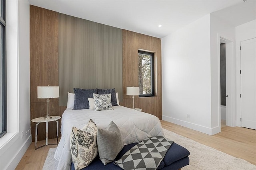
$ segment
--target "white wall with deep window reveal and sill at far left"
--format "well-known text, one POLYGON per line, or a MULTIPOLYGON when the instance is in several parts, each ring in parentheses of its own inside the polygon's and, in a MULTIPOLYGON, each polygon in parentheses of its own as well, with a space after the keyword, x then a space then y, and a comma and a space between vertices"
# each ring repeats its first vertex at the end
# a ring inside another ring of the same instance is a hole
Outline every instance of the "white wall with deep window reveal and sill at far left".
POLYGON ((7 0, 6 6, 8 124, 0 139, 0 169, 14 170, 31 143, 29 2, 7 0))

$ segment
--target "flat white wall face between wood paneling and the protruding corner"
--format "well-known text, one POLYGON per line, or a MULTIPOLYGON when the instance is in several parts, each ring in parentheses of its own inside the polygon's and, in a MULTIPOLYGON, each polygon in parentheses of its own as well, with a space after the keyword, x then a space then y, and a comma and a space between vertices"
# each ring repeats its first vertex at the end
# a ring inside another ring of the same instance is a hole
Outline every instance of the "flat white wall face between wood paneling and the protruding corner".
POLYGON ((207 134, 212 134, 210 43, 210 14, 162 39, 162 119, 207 134))

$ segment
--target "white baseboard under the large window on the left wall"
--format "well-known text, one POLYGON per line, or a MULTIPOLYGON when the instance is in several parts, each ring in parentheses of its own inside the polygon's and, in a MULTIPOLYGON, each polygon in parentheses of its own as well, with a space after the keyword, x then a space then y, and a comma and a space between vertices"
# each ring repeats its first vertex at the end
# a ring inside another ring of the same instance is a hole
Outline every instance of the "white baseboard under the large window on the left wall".
POLYGON ((18 150, 17 154, 12 158, 12 161, 10 161, 10 164, 7 166, 6 170, 14 170, 16 166, 19 164, 22 156, 25 154, 26 150, 32 143, 32 135, 29 135, 26 141, 23 143, 23 145, 20 147, 20 150, 18 150))

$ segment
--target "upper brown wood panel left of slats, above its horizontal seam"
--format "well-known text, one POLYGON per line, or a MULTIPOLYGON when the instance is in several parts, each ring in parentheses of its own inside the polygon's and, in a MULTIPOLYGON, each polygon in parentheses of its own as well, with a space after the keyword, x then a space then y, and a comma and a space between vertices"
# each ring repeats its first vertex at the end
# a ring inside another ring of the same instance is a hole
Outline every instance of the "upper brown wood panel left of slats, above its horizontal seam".
POLYGON ((30 5, 30 102, 45 102, 37 86, 48 85, 58 86, 58 13, 30 5))

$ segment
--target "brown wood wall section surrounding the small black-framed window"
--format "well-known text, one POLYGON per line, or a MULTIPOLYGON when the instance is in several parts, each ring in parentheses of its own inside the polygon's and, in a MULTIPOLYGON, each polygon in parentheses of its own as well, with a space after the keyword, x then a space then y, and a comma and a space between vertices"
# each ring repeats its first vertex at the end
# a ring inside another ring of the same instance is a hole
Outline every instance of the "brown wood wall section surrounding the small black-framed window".
POLYGON ((122 30, 123 46, 123 102, 122 105, 132 107, 132 96, 126 96, 127 86, 138 86, 138 50, 154 53, 155 96, 134 96, 134 107, 162 119, 162 67, 161 39, 122 30))

